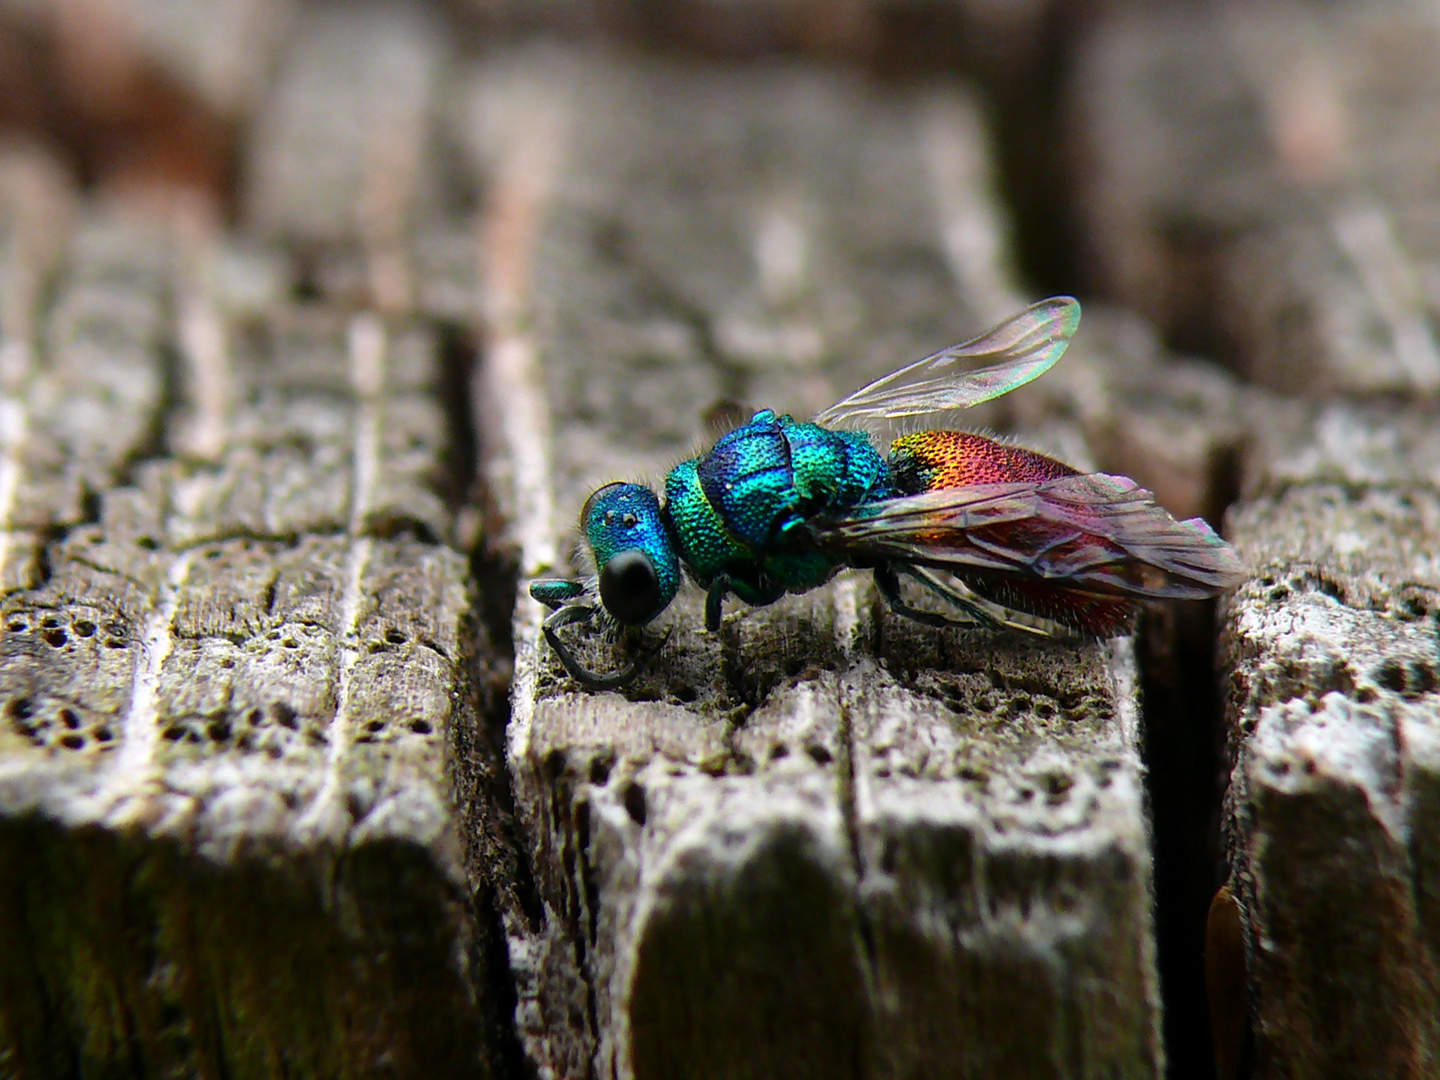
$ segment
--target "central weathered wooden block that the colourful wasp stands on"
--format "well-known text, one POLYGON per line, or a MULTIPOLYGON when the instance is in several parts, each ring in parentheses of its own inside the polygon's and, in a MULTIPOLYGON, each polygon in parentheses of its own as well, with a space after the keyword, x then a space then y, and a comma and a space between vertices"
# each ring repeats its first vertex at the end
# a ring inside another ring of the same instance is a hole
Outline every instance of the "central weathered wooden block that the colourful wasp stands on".
MULTIPOLYGON (((526 575, 717 397, 805 413, 1012 291, 956 92, 541 52, 481 72, 472 125, 477 412, 526 575)), ((544 917, 511 962, 541 1074, 1156 1074, 1128 644, 922 632, 854 576, 719 635, 698 608, 618 696, 579 693, 521 599, 508 750, 544 917)))

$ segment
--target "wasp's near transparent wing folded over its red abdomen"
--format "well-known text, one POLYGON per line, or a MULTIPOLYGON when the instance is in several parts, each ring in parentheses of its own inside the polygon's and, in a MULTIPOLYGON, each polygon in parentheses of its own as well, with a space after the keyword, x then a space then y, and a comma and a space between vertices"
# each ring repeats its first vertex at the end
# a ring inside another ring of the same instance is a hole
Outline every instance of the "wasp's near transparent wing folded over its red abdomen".
POLYGON ((814 523, 847 562, 894 560, 1123 596, 1202 599, 1236 585, 1236 550, 1200 518, 1103 472, 1043 484, 973 484, 881 500, 814 523))

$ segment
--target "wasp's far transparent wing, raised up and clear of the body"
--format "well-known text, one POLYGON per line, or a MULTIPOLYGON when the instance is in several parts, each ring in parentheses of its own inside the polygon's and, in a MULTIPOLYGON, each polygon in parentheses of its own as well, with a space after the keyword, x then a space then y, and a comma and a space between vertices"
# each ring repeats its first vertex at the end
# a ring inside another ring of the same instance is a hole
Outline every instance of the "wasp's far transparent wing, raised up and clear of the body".
POLYGON ((1056 363, 1080 325, 1080 302, 1051 297, 994 330, 891 372, 815 416, 829 428, 968 409, 1024 386, 1056 363), (986 363, 975 367, 976 363, 986 363))

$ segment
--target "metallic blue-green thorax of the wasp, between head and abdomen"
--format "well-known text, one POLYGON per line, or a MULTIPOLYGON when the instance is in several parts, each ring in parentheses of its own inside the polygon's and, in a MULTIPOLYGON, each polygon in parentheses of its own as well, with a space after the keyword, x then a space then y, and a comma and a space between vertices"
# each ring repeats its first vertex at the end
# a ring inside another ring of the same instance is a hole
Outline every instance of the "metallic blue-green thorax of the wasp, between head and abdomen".
POLYGON ((825 582, 840 563, 806 550, 806 520, 890 494, 890 469, 861 432, 763 409, 665 478, 665 517, 685 569, 724 575, 746 603, 825 582))

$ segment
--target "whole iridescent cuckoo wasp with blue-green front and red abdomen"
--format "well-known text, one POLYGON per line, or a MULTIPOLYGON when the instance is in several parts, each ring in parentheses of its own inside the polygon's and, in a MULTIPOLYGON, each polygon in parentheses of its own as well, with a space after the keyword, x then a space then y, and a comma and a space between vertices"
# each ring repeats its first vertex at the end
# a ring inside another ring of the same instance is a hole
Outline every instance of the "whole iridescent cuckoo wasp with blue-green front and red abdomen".
POLYGON ((590 671, 560 628, 599 621, 638 631, 684 575, 706 589, 710 631, 730 593, 772 603, 854 566, 873 570, 890 606, 919 622, 1045 636, 1115 635, 1142 599, 1201 599, 1237 583, 1230 544, 1200 518, 1176 521, 1125 477, 1081 474, 971 432, 903 435, 888 455, 873 444, 870 426, 963 409, 1038 377, 1079 323, 1079 302, 1056 297, 877 379, 809 423, 763 409, 672 468, 664 501, 638 484, 596 490, 580 527, 598 575, 530 586, 552 609, 550 648, 582 685, 625 685, 634 660, 613 674, 590 671), (901 579, 950 613, 913 606, 901 579))

